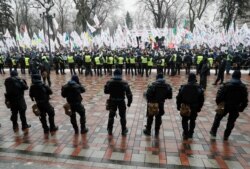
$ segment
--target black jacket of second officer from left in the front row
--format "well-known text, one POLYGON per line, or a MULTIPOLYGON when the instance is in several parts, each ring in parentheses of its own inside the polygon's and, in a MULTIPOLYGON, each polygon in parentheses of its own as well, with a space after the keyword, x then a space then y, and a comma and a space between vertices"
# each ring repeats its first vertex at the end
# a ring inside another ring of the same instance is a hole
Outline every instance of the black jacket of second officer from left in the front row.
POLYGON ((37 103, 48 102, 52 94, 52 90, 45 85, 41 80, 33 80, 30 86, 29 95, 32 101, 34 99, 37 103))

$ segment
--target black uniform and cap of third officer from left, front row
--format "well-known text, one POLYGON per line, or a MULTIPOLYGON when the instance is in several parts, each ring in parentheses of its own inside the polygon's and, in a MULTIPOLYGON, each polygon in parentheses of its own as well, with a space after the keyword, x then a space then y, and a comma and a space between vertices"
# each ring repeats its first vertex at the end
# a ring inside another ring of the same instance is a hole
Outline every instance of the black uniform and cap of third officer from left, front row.
POLYGON ((67 99, 70 104, 72 115, 70 116, 71 124, 75 130, 75 133, 79 133, 79 128, 76 121, 76 112, 80 115, 81 133, 88 132, 86 128, 86 116, 85 108, 82 102, 81 93, 85 92, 85 88, 79 83, 79 79, 76 75, 72 76, 72 79, 62 87, 61 95, 67 99))

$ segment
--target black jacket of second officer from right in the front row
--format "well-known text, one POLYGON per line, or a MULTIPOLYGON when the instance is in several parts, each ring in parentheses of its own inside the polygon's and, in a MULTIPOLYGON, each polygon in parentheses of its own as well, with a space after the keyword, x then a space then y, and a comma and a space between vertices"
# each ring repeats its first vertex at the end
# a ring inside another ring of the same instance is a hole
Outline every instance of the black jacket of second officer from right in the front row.
POLYGON ((176 96, 178 110, 180 110, 181 103, 189 105, 193 112, 200 112, 204 104, 204 91, 202 87, 196 82, 189 82, 182 85, 176 96))

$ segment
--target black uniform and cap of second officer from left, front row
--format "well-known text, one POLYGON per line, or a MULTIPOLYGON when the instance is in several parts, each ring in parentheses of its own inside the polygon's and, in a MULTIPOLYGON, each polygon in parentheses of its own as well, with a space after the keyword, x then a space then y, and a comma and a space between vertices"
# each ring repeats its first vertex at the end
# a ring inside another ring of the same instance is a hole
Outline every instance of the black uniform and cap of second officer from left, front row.
POLYGON ((54 132, 58 130, 58 127, 55 126, 55 111, 52 105, 49 103, 50 95, 52 95, 52 90, 41 81, 40 75, 32 75, 32 85, 30 86, 29 95, 32 101, 36 101, 37 107, 41 112, 40 121, 44 133, 49 131, 54 132), (49 124, 47 125, 46 115, 49 116, 49 124))

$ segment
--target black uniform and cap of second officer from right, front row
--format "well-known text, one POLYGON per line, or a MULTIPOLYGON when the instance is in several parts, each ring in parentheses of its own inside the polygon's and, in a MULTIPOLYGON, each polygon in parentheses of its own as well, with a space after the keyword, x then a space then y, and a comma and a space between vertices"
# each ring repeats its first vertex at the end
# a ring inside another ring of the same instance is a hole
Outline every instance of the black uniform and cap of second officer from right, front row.
POLYGON ((190 73, 188 83, 182 85, 176 96, 177 109, 180 110, 181 104, 190 106, 191 115, 189 117, 182 116, 183 139, 192 138, 195 128, 195 120, 198 112, 204 104, 204 91, 200 85, 196 83, 196 76, 190 73), (188 124, 188 121, 190 123, 188 124))

